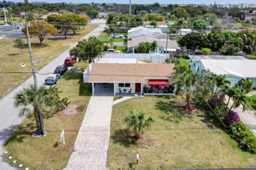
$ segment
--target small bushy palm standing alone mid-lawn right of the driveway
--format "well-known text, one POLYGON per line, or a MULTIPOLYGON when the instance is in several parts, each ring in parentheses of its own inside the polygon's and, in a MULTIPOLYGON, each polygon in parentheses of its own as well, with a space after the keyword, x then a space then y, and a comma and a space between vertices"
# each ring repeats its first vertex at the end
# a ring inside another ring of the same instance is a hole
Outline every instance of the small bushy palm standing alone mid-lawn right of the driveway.
POLYGON ((135 133, 135 138, 140 137, 140 133, 145 129, 149 128, 153 122, 152 117, 146 117, 143 111, 135 113, 130 111, 130 114, 124 118, 124 122, 133 129, 135 133))

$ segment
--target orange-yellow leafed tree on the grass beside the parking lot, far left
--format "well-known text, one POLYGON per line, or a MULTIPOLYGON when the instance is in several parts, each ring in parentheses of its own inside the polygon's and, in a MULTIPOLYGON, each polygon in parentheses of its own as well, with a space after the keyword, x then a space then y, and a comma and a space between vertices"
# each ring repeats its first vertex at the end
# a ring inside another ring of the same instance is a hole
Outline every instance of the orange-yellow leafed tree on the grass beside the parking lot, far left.
MULTIPOLYGON (((35 20, 31 22, 30 27, 28 27, 30 35, 34 35, 40 41, 40 46, 42 46, 43 40, 49 38, 50 36, 55 36, 57 30, 53 25, 50 25, 44 20, 35 20)), ((27 35, 25 28, 22 29, 24 35, 27 35)))

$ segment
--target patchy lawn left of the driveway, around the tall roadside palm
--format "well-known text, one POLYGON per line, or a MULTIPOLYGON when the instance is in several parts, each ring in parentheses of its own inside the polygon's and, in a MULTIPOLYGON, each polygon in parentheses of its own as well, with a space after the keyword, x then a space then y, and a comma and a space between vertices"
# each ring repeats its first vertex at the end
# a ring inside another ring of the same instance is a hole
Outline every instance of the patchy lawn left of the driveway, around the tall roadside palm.
POLYGON ((28 116, 6 141, 7 157, 12 156, 18 165, 22 164, 29 169, 55 170, 67 166, 92 92, 91 84, 83 83, 86 65, 83 62, 76 64, 56 85, 63 91, 61 97, 68 97, 70 105, 77 105, 71 108, 77 114, 67 115, 54 109, 45 109, 43 114, 48 133, 43 138, 31 137, 36 131, 36 125, 34 116, 28 116), (65 130, 65 145, 59 143, 62 130, 65 130))

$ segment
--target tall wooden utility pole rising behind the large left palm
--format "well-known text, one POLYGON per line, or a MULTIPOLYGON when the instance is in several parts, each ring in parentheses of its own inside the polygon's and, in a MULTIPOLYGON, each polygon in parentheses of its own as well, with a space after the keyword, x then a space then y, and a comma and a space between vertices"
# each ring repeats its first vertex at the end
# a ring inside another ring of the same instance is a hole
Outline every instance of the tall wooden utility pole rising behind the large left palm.
MULTIPOLYGON (((27 31, 27 40, 28 40, 28 52, 29 52, 30 63, 31 63, 31 68, 32 68, 32 72, 33 72, 35 89, 38 90, 37 80, 36 80, 36 72, 35 72, 35 62, 34 62, 34 58, 33 58, 33 54, 32 54, 32 49, 31 49, 31 44, 30 44, 28 26, 30 26, 30 23, 26 23, 25 24, 25 28, 26 28, 26 31, 27 31)), ((41 122, 41 126, 42 126, 42 132, 43 132, 43 134, 45 134, 43 113, 42 113, 41 110, 39 110, 39 118, 40 118, 40 122, 41 122)))

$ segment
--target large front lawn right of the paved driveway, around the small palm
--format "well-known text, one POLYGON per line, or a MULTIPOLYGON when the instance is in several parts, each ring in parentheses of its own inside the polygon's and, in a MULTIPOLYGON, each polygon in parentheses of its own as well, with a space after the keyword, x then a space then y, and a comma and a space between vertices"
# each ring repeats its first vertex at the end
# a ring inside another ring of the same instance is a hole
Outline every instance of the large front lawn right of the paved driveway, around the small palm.
POLYGON ((180 97, 132 98, 113 106, 107 167, 109 169, 255 167, 256 155, 239 148, 204 108, 188 113, 180 97), (145 111, 154 123, 139 140, 127 129, 129 111, 145 111), (213 128, 206 121, 214 124, 213 128), (136 154, 139 153, 139 164, 136 154))

